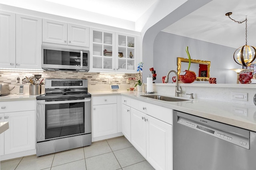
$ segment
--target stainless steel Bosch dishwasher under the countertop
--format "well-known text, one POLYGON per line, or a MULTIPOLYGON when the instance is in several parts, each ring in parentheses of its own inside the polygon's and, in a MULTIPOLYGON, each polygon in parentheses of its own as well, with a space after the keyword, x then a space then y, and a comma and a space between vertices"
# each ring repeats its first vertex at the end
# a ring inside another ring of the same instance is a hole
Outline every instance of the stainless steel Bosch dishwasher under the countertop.
POLYGON ((256 170, 256 132, 174 111, 174 170, 256 170))

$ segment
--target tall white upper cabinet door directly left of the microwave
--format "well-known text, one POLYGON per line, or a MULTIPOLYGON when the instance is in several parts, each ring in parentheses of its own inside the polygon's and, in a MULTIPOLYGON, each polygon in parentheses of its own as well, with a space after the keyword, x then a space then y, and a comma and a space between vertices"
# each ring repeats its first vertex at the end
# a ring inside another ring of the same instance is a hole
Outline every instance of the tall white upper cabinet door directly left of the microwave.
POLYGON ((16 68, 42 69, 42 19, 16 14, 16 68))

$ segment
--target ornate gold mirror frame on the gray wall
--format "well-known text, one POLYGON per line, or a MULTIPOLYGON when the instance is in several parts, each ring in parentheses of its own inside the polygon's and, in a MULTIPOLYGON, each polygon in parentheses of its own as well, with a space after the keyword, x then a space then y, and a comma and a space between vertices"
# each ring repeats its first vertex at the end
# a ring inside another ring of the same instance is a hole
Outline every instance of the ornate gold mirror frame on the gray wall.
MULTIPOLYGON (((181 57, 177 57, 177 71, 178 71, 178 75, 180 75, 180 69, 181 69, 181 62, 188 62, 188 59, 184 59, 181 57)), ((191 59, 191 63, 196 63, 196 64, 207 64, 207 77, 196 77, 196 81, 209 81, 210 78, 210 66, 211 66, 211 62, 210 61, 201 61, 201 60, 194 60, 191 59)), ((179 80, 180 80, 180 76, 179 76, 179 80)))

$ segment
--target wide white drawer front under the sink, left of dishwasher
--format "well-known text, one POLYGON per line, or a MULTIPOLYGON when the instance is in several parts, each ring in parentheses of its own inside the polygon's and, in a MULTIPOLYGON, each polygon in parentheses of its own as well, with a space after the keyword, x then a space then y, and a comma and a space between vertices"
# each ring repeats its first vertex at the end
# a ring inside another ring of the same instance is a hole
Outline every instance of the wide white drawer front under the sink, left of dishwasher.
POLYGON ((140 100, 131 100, 131 107, 172 125, 172 109, 140 100))

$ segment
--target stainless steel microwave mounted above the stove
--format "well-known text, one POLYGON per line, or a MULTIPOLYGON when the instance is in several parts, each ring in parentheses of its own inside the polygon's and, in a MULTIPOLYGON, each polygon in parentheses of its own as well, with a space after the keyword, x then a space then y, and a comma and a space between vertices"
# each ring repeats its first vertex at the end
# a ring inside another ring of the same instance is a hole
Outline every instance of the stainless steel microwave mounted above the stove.
POLYGON ((42 45, 42 68, 44 70, 89 71, 89 51, 42 45))

